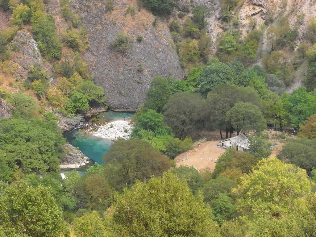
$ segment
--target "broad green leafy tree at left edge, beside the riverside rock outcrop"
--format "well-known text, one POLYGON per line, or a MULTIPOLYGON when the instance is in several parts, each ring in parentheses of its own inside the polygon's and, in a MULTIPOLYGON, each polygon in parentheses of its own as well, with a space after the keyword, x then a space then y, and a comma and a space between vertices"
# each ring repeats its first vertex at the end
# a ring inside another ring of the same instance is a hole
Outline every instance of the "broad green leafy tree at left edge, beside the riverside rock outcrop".
POLYGON ((15 162, 23 171, 59 169, 65 139, 56 123, 0 119, 0 147, 8 163, 15 162))

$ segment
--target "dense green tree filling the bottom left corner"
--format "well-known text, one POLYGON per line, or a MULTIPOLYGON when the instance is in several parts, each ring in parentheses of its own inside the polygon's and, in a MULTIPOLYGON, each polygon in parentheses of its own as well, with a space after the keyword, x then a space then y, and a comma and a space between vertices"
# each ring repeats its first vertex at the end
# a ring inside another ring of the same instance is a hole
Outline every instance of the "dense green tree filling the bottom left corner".
POLYGON ((10 185, 1 195, 0 207, 0 225, 13 228, 16 236, 59 237, 65 230, 62 211, 43 185, 10 185))

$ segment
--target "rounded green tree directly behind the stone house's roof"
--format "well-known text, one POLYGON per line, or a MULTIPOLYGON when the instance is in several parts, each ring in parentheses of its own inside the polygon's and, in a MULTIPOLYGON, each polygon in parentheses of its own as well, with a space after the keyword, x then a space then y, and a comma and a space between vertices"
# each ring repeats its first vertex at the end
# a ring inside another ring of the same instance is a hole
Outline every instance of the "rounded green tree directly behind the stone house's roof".
POLYGON ((264 130, 266 121, 258 106, 252 105, 249 102, 236 103, 226 113, 227 120, 237 131, 237 135, 241 131, 244 135, 251 130, 261 132, 264 130))

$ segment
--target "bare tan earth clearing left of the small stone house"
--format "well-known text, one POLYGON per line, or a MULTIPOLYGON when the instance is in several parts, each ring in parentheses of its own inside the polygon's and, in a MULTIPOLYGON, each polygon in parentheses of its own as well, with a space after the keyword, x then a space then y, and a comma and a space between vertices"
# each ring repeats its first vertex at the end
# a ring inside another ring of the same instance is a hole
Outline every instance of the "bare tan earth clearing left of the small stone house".
POLYGON ((193 166, 197 170, 209 167, 210 171, 213 172, 216 165, 216 158, 225 152, 225 149, 216 147, 218 141, 208 141, 201 143, 192 150, 182 153, 174 158, 174 161, 179 166, 193 166), (188 159, 185 159, 185 158, 188 159), (202 159, 201 159, 202 158, 202 159))

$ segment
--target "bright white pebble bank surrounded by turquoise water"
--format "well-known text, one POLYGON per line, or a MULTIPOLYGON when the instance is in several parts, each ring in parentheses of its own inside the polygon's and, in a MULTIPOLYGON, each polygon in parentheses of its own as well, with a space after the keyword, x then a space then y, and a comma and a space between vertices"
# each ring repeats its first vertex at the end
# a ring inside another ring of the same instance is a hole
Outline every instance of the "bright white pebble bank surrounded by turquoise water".
POLYGON ((115 139, 118 137, 122 137, 124 139, 130 139, 131 138, 131 132, 133 129, 133 125, 129 124, 128 121, 125 120, 117 120, 110 122, 106 125, 100 126, 98 128, 98 131, 93 132, 92 135, 107 139, 115 139), (113 124, 113 127, 111 128, 111 124, 113 124), (127 129, 127 132, 124 132, 124 130, 127 129))

